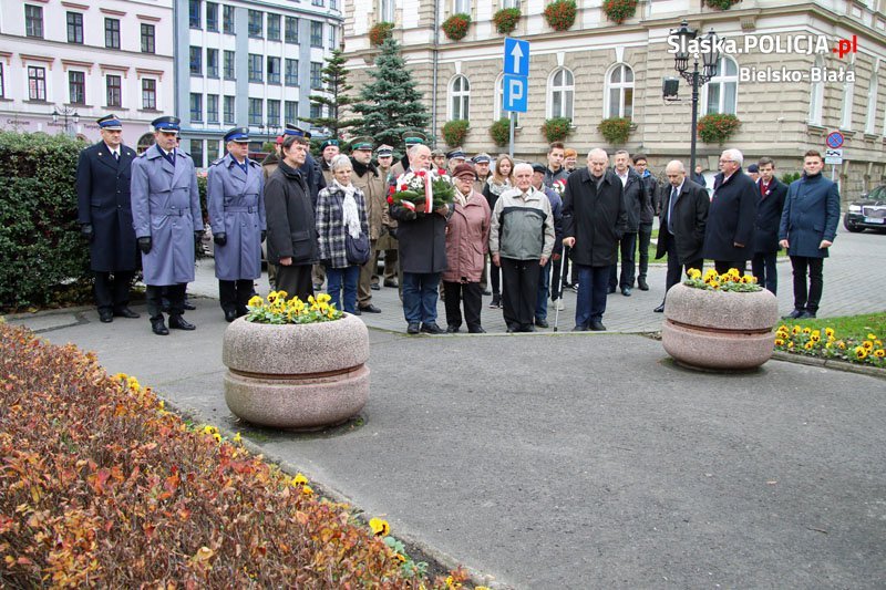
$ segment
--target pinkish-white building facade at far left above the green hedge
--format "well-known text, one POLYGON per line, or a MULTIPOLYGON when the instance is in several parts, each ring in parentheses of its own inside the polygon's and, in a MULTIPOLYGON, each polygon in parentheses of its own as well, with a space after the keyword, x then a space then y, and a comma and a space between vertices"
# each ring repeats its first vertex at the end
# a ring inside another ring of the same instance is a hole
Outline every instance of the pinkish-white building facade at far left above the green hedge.
POLYGON ((97 142, 113 113, 137 146, 173 108, 172 25, 172 0, 3 1, 0 128, 97 142))

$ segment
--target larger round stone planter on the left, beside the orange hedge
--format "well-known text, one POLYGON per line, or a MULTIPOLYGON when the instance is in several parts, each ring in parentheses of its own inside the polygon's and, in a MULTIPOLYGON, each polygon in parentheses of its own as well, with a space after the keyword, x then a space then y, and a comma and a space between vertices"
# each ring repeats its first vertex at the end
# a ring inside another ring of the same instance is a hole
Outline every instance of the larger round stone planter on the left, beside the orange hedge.
POLYGON ((225 402, 261 426, 315 429, 356 415, 369 398, 369 332, 351 314, 272 325, 239 318, 225 331, 225 402))

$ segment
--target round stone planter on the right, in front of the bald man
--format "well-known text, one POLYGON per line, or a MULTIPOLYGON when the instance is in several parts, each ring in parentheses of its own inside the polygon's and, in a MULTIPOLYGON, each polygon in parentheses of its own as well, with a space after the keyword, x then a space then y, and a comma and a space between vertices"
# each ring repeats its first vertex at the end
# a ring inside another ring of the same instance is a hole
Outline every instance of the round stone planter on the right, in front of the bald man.
POLYGON ((745 371, 772 356, 777 321, 777 301, 765 289, 736 293, 678 283, 664 302, 661 343, 686 366, 745 371))

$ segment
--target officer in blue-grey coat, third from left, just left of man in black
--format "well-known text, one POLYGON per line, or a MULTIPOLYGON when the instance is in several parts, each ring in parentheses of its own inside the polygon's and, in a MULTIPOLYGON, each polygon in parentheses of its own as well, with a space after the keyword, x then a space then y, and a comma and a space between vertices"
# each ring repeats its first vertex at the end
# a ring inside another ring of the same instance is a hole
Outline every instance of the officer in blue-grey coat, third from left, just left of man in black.
POLYGON ((206 200, 215 241, 215 276, 225 320, 246 315, 261 277, 265 239, 265 178, 258 162, 249 159, 249 127, 225 135, 227 155, 209 167, 206 200))

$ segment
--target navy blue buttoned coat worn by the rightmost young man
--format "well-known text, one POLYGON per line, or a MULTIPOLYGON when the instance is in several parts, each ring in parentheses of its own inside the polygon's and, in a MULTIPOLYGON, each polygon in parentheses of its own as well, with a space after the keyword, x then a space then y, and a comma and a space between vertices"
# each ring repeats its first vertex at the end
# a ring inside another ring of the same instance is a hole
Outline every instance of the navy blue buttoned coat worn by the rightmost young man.
POLYGON ((826 258, 822 240, 834 241, 839 221, 837 185, 824 175, 803 175, 787 187, 779 239, 787 240, 790 256, 826 258))

